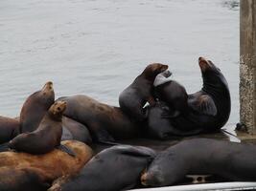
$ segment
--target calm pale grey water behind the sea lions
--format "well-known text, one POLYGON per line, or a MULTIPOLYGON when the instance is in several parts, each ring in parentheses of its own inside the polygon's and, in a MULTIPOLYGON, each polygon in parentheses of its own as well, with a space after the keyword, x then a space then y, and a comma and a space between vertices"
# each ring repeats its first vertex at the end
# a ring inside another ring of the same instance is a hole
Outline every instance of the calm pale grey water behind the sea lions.
POLYGON ((52 80, 57 96, 118 105, 151 62, 169 64, 189 93, 201 88, 198 56, 229 82, 239 120, 239 5, 223 0, 1 0, 0 115, 16 117, 52 80))

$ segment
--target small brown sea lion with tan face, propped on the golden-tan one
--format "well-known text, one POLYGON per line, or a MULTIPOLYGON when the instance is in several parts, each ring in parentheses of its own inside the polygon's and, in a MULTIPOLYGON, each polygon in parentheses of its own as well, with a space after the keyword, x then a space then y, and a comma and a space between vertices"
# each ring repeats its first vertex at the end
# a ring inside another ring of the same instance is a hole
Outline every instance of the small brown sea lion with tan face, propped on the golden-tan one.
POLYGON ((31 154, 45 154, 60 145, 62 135, 62 114, 66 109, 65 101, 55 102, 41 120, 38 128, 31 133, 23 133, 9 142, 16 151, 31 154))

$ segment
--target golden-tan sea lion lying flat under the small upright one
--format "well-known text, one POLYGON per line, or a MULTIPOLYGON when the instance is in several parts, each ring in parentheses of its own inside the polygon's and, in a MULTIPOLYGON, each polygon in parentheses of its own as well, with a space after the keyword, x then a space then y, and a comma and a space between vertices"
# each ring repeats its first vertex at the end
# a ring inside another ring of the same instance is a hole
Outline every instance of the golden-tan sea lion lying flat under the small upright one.
POLYGON ((51 183, 62 176, 77 174, 93 157, 92 149, 81 141, 65 140, 61 144, 71 148, 76 157, 73 158, 58 149, 44 155, 12 151, 0 153, 0 190, 19 190, 22 185, 26 185, 21 187, 23 190, 29 190, 29 186, 40 187, 42 183, 51 183), (2 171, 3 168, 7 170, 2 171), (13 174, 8 179, 2 179, 5 173, 13 174))

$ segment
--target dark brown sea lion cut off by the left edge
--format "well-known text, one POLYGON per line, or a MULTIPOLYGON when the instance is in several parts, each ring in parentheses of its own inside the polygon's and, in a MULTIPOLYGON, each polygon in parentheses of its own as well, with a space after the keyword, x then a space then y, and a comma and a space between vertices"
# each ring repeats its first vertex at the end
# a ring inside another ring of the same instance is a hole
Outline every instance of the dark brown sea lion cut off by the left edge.
POLYGON ((15 138, 19 134, 19 120, 0 117, 0 144, 15 138))

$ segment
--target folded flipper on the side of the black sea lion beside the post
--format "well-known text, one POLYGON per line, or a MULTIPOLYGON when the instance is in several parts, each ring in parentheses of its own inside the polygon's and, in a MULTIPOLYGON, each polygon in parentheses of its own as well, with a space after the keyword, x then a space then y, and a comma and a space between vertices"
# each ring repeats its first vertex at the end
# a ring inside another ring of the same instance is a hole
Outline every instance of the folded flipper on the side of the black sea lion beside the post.
POLYGON ((211 96, 198 96, 195 101, 190 103, 190 106, 200 114, 214 117, 217 115, 217 108, 211 96))

